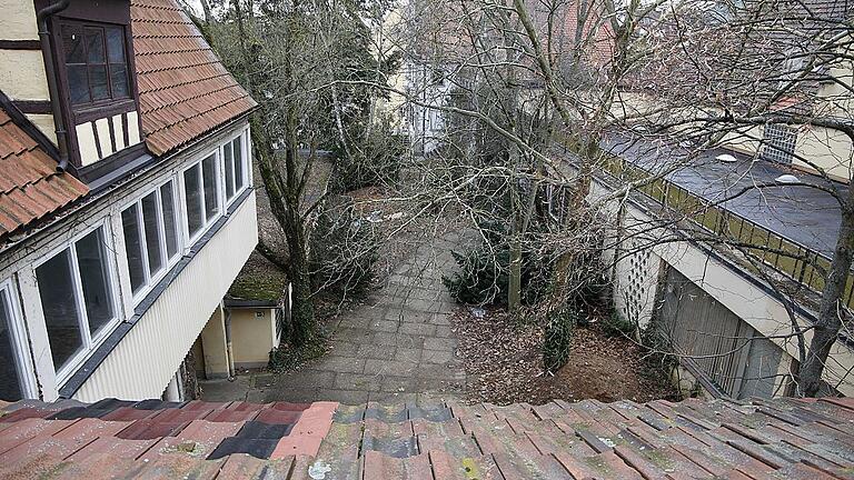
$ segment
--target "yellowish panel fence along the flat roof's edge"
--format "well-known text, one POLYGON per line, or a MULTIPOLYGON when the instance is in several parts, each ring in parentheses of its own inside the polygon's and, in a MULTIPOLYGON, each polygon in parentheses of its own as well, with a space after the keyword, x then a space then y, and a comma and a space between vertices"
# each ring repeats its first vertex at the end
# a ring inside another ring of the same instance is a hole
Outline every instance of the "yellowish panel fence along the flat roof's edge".
MULTIPOLYGON (((648 179, 651 174, 628 161, 608 156, 605 170, 620 181, 648 179)), ((831 259, 797 242, 781 237, 733 211, 714 206, 707 200, 666 180, 655 179, 638 190, 663 207, 679 212, 694 224, 725 241, 747 246, 743 251, 775 272, 821 293, 831 269, 831 259)), ((756 271, 751 263, 745 268, 756 271)), ((854 310, 854 276, 850 272, 844 303, 854 310)))

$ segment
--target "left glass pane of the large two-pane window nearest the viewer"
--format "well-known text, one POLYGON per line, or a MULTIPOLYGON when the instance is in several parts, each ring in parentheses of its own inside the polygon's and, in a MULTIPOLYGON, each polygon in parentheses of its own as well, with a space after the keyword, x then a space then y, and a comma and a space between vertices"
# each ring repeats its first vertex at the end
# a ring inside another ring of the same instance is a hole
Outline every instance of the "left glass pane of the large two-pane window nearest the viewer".
POLYGON ((83 348, 69 251, 63 250, 36 269, 50 353, 57 370, 83 348))

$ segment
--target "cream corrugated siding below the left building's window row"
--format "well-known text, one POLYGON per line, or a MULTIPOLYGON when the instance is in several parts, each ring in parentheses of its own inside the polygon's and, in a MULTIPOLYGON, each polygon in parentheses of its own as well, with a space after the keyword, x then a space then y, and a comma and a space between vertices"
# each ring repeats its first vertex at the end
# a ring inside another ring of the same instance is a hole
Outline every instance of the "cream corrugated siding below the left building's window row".
POLYGON ((75 398, 160 397, 257 242, 255 193, 110 352, 75 398))

